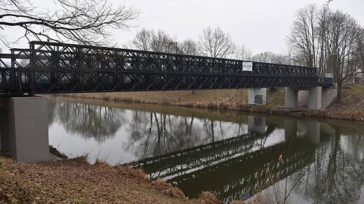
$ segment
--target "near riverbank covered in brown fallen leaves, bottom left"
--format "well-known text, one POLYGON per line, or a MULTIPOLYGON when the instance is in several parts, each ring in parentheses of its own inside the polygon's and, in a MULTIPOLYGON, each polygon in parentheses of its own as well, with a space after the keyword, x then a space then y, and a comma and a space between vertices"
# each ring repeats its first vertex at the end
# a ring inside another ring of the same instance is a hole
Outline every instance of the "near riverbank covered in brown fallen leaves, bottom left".
POLYGON ((20 163, 0 156, 0 203, 218 203, 204 193, 189 200, 162 180, 141 170, 94 165, 85 157, 44 163, 20 163))

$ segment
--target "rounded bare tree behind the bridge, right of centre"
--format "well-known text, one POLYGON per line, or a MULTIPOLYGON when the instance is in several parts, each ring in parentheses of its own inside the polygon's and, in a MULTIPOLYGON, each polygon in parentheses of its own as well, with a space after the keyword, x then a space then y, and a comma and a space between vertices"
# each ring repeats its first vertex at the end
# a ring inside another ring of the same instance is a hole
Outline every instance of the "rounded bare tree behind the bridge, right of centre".
POLYGON ((201 53, 209 57, 228 57, 235 50, 230 34, 225 33, 220 27, 214 30, 211 27, 204 29, 199 45, 201 53))

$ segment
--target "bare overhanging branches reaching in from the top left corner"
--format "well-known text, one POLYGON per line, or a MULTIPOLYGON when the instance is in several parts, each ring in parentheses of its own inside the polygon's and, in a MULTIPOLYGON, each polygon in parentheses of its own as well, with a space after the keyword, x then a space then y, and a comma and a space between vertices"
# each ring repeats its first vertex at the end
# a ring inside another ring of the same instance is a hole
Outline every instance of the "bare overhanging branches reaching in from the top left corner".
MULTIPOLYGON (((112 6, 107 0, 55 0, 53 10, 38 8, 29 0, 0 0, 0 28, 18 27, 20 38, 74 41, 82 44, 109 43, 109 29, 128 29, 139 12, 132 7, 112 6)), ((18 38, 18 40, 20 39, 18 38)), ((15 43, 0 41, 5 45, 15 43)))

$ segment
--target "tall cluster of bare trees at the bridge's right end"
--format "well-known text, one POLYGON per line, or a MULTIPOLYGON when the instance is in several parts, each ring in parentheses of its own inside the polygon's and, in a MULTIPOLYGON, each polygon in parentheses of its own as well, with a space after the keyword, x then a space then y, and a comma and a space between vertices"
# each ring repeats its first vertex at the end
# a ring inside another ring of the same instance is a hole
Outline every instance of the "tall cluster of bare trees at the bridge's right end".
POLYGON ((319 75, 333 73, 339 102, 342 84, 363 73, 362 33, 350 15, 327 6, 317 11, 309 5, 297 12, 288 39, 296 59, 306 66, 318 66, 319 75))

